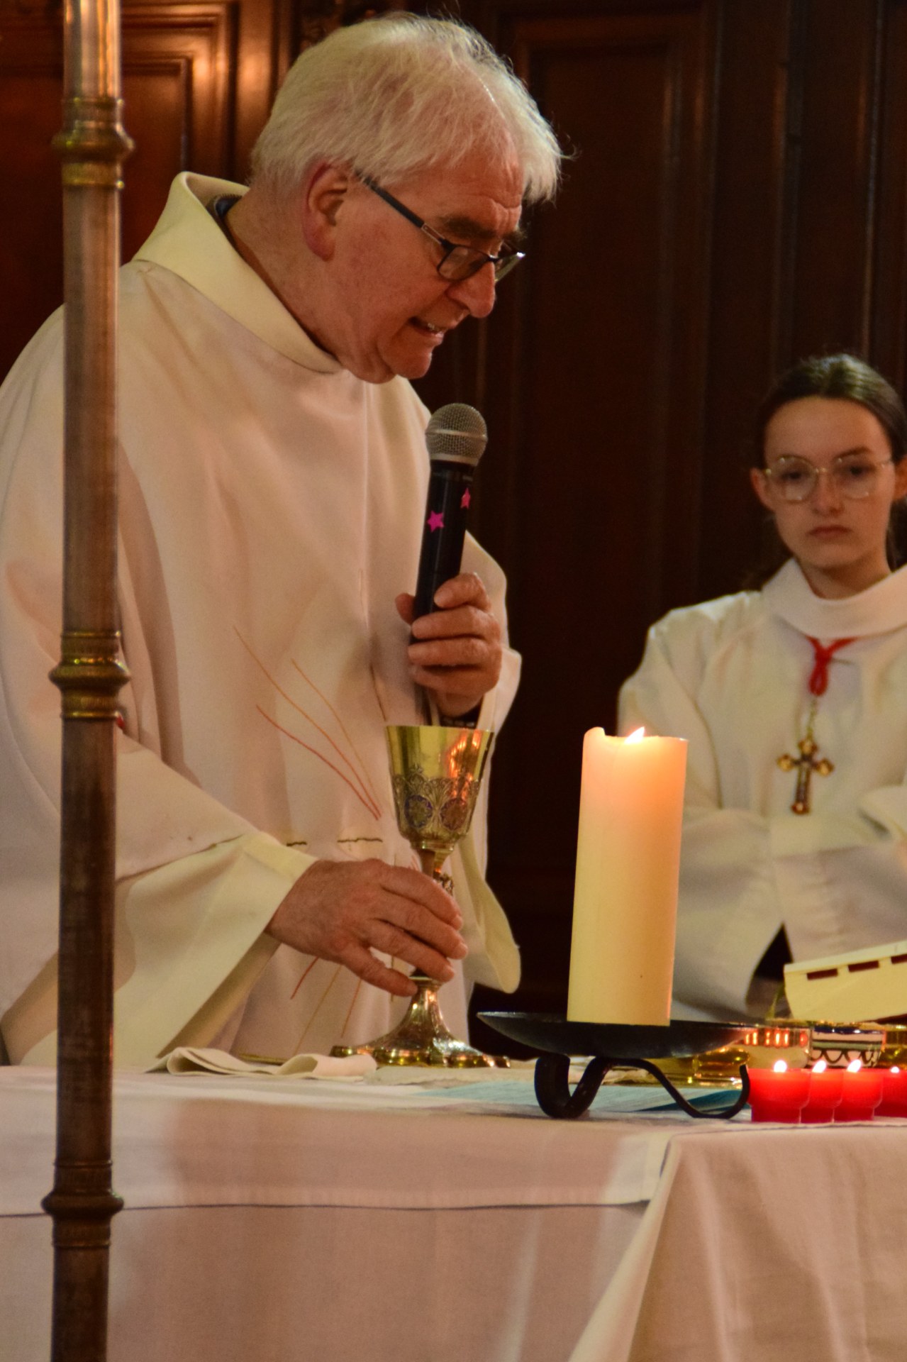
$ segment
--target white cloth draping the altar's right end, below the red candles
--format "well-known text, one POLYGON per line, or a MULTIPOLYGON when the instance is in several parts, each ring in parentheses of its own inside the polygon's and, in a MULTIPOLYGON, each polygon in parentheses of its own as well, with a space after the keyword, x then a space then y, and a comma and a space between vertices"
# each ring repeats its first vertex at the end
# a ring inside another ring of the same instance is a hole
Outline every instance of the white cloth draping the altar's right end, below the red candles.
POLYGON ((569 1362, 902 1362, 903 1122, 704 1133, 673 1137, 569 1362))

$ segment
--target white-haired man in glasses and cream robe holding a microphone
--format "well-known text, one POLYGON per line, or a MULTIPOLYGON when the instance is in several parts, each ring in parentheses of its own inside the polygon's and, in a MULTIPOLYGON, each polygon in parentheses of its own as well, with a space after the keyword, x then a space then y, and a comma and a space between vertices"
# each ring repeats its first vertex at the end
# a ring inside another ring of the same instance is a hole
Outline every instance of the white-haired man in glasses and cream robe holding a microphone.
MULTIPOLYGON (((406 966, 454 979, 462 1034, 468 982, 516 985, 483 817, 454 902, 396 831, 384 726, 419 722, 424 686, 498 729, 516 688, 473 541, 410 643, 428 413, 406 380, 490 312, 558 157, 471 30, 366 22, 298 59, 251 188, 178 176, 123 271, 120 1065, 362 1042, 406 966)), ((56 1024, 61 350, 56 315, 0 395, 0 1017, 29 1062, 56 1024)))

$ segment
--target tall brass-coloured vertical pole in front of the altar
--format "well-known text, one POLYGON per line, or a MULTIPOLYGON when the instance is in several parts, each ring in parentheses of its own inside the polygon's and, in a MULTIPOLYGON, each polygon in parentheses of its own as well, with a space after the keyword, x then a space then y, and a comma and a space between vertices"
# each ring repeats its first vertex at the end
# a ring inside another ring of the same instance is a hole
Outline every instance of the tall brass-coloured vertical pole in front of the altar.
POLYGON ((116 332, 123 159, 118 0, 67 0, 63 158, 65 454, 53 1362, 104 1362, 113 1032, 118 661, 116 332))

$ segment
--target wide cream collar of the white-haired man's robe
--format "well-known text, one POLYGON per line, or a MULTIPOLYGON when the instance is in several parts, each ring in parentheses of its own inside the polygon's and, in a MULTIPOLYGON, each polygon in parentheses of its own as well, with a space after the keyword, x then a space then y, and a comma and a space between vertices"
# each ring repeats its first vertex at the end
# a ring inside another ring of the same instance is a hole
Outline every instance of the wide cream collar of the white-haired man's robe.
POLYGON ((287 360, 316 373, 340 373, 339 360, 306 335, 293 313, 233 249, 208 212, 212 200, 244 193, 244 185, 229 180, 189 172, 178 174, 154 232, 135 259, 151 260, 178 274, 287 360))

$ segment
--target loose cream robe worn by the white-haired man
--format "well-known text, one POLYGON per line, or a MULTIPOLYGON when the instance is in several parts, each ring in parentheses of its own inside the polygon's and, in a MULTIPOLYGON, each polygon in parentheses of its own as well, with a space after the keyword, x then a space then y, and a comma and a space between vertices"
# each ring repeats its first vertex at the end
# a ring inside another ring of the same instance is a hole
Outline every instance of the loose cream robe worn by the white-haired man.
MULTIPOLYGON (((313 858, 415 864, 384 726, 419 722, 394 598, 415 583, 426 411, 403 379, 345 370, 240 259, 206 204, 241 192, 180 176, 121 271, 120 1065, 177 1039, 325 1050, 404 1007, 263 929, 313 858)), ((61 361, 57 313, 0 394, 0 1017, 29 1062, 56 1026, 61 361)), ((500 568, 473 541, 464 568, 504 622, 500 568)), ((481 726, 518 674, 505 650, 481 726)), ((468 982, 519 977, 483 828, 482 809, 449 866, 470 955, 441 1002, 460 1034, 468 982)))

